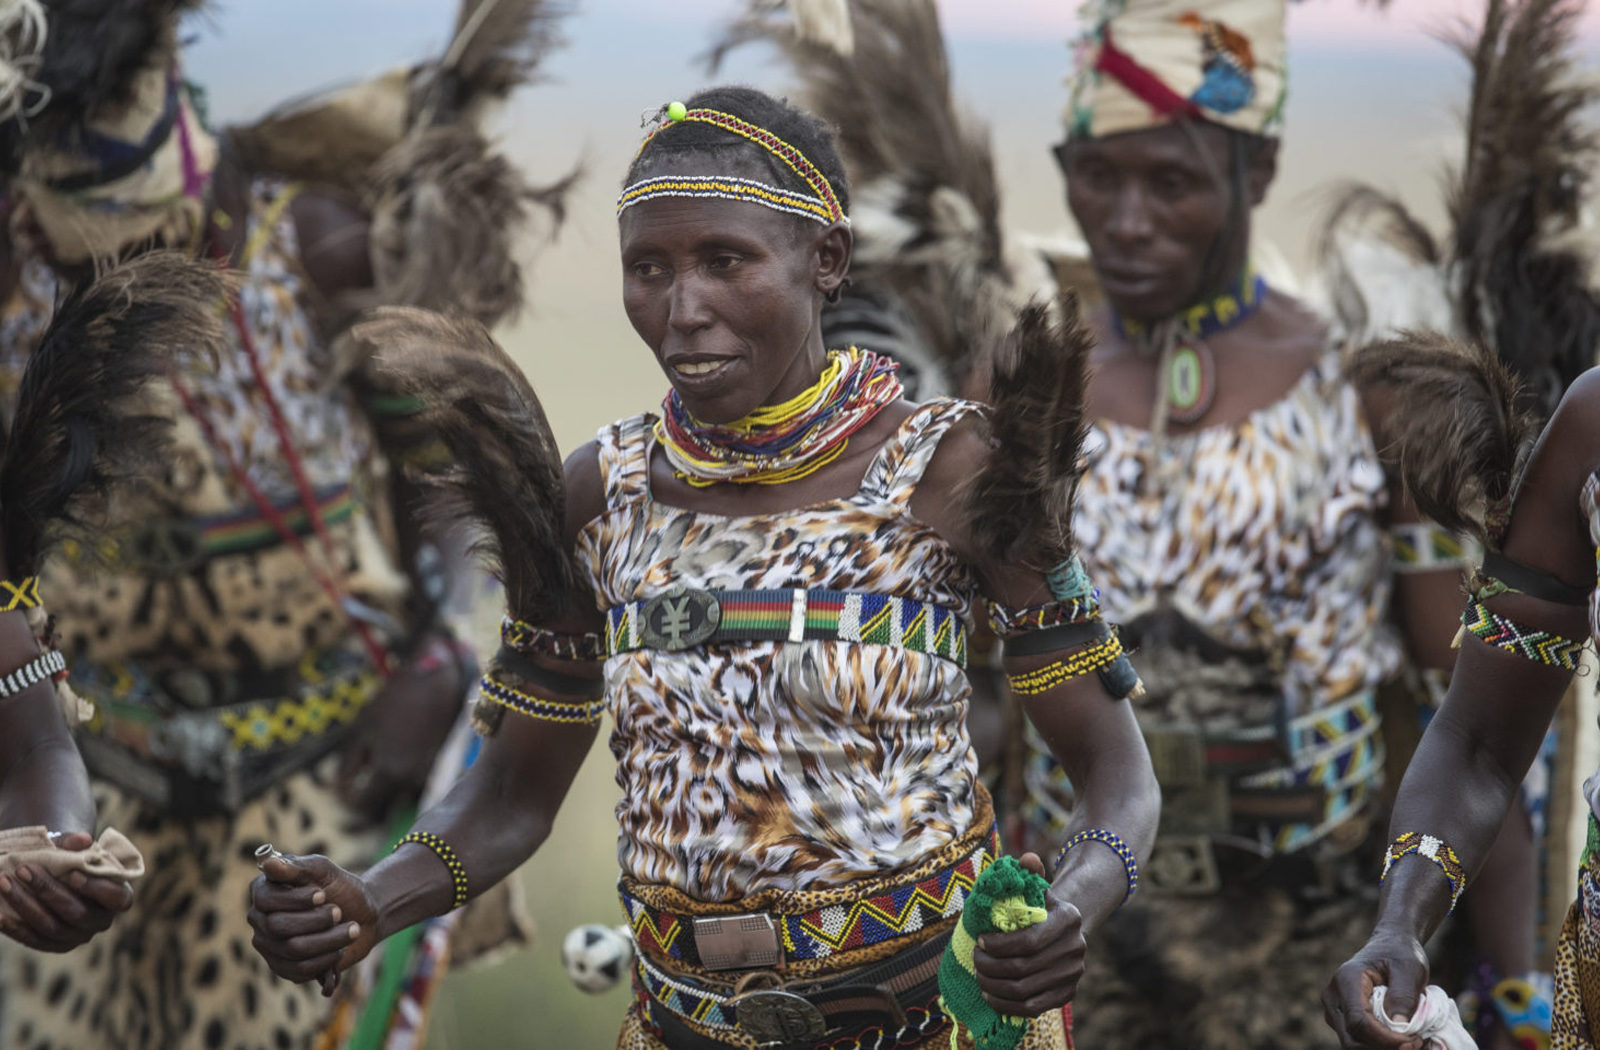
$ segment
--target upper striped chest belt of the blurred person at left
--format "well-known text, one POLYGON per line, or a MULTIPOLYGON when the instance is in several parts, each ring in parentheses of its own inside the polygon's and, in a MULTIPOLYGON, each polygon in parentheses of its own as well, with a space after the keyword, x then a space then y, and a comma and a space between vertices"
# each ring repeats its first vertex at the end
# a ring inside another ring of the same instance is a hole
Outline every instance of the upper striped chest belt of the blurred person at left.
MULTIPOLYGON (((330 485, 314 495, 328 525, 355 515, 358 501, 349 485, 330 485)), ((277 511, 296 536, 312 535, 312 519, 299 498, 277 504, 277 511)), ((277 527, 254 507, 202 517, 152 517, 122 530, 107 560, 152 576, 178 576, 213 557, 264 551, 280 543, 277 527)))

